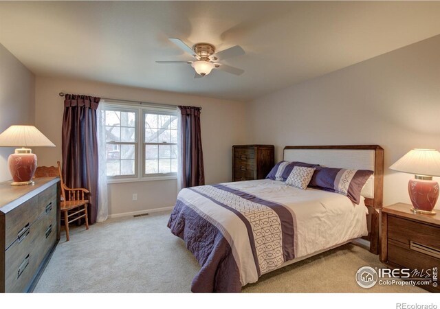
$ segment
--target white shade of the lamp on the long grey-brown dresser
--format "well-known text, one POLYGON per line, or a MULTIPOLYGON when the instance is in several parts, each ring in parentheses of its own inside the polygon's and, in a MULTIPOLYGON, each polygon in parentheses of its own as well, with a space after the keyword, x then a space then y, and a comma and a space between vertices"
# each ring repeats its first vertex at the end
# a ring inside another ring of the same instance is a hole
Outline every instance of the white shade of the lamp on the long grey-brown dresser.
POLYGON ((54 143, 34 126, 10 126, 0 134, 2 147, 55 147, 54 143))

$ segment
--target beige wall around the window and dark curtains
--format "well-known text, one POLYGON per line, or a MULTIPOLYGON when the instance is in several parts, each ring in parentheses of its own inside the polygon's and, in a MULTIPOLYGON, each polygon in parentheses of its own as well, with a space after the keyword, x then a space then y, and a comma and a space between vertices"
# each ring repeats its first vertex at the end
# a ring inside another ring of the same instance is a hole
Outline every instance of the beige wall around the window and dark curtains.
MULTIPOLYGON (((58 93, 97 95, 104 98, 140 100, 173 105, 201 106, 201 134, 206 183, 231 179, 231 146, 245 142, 245 104, 131 87, 63 78, 36 78, 36 126, 56 144, 40 148, 39 165, 61 160, 63 98, 58 93)), ((109 214, 171 207, 177 197, 177 181, 143 181, 109 185, 109 214), (137 201, 132 194, 137 193, 137 201)))

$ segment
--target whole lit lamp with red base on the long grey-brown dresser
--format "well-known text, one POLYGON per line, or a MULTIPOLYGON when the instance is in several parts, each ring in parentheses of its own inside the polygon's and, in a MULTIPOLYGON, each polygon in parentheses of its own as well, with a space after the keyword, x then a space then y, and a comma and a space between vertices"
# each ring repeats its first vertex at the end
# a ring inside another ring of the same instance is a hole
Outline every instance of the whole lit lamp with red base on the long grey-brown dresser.
POLYGON ((21 147, 9 156, 8 165, 12 176, 11 185, 32 185, 36 170, 36 155, 28 147, 55 147, 34 126, 10 126, 0 134, 0 147, 21 147), (26 148, 25 148, 26 147, 26 148))

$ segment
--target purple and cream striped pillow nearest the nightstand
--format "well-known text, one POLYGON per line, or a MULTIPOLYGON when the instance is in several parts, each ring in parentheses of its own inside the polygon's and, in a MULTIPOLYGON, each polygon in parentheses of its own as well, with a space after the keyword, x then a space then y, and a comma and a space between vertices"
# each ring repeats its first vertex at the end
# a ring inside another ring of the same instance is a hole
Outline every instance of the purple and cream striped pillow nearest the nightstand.
POLYGON ((347 170, 319 166, 314 176, 311 177, 309 187, 345 195, 359 205, 362 187, 372 174, 371 170, 347 170))

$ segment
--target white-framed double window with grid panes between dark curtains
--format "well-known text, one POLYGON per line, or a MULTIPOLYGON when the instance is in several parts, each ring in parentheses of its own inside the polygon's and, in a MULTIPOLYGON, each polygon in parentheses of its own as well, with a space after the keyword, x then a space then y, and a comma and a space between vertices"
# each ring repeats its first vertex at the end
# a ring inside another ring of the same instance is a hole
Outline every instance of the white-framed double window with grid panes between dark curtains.
POLYGON ((177 113, 171 108, 104 103, 107 176, 177 175, 177 113))

